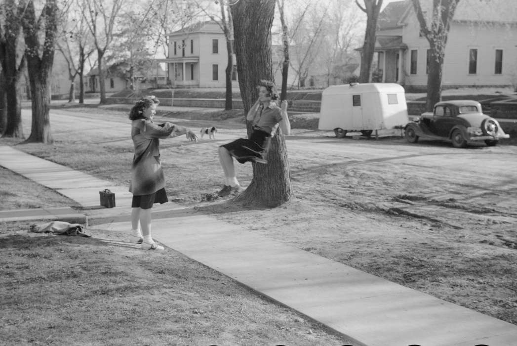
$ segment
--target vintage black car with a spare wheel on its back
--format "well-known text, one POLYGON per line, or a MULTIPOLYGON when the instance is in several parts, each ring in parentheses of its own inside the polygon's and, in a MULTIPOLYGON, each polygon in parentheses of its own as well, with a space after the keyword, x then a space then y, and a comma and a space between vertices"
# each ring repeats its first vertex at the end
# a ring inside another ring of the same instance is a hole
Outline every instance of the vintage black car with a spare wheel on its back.
POLYGON ((408 123, 404 131, 409 143, 416 143, 420 137, 447 139, 457 148, 479 141, 494 146, 499 139, 509 138, 496 119, 483 114, 481 104, 473 100, 438 102, 434 112, 422 113, 417 121, 408 123))

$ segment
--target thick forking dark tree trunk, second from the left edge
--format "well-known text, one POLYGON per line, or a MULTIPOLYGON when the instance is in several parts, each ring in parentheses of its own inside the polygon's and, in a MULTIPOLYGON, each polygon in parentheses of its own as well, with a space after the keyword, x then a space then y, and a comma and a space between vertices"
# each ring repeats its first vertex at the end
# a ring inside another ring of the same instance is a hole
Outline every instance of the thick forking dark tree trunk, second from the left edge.
POLYGON ((31 85, 32 128, 27 142, 52 143, 50 130, 50 81, 57 33, 57 0, 46 0, 36 18, 34 0, 21 0, 26 10, 22 18, 27 68, 31 85))

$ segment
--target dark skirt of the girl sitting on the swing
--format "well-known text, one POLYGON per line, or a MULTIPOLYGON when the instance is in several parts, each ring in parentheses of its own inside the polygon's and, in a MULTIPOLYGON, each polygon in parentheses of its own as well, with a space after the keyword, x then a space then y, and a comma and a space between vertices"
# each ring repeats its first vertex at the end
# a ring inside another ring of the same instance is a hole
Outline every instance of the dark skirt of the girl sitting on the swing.
POLYGON ((253 130, 250 139, 239 138, 233 142, 221 145, 239 163, 253 161, 253 158, 264 159, 263 154, 269 148, 271 135, 261 130, 253 130))

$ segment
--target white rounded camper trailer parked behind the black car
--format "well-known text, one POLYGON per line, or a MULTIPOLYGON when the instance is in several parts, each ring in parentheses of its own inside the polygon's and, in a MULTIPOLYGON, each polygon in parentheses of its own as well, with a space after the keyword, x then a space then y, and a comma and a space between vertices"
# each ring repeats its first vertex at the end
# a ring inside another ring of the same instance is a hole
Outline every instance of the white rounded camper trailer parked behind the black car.
POLYGON ((336 137, 360 131, 403 128, 409 122, 404 88, 396 83, 351 83, 323 91, 318 129, 334 130, 336 137))

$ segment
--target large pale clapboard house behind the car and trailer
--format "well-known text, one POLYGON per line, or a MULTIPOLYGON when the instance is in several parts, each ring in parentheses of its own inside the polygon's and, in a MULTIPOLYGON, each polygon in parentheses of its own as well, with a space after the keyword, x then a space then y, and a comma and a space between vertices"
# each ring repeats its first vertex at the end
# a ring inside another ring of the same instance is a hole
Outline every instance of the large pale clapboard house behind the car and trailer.
MULTIPOLYGON (((425 3, 425 2, 422 2, 425 3)), ((431 8, 424 16, 429 16, 431 8)), ((427 88, 429 42, 420 34, 412 1, 392 2, 379 14, 375 44, 382 82, 427 88)), ((509 86, 517 76, 514 0, 458 4, 445 49, 443 87, 509 86)))

